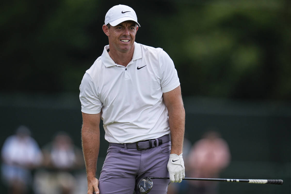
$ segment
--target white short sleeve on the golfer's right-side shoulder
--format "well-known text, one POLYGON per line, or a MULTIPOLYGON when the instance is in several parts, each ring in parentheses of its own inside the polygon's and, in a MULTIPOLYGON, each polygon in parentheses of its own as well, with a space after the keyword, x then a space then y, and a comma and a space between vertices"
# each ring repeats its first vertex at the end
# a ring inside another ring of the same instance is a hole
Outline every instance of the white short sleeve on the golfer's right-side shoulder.
POLYGON ((160 51, 159 62, 162 72, 161 87, 163 93, 165 93, 178 87, 180 81, 173 60, 163 50, 160 51))

